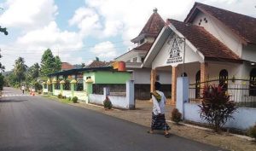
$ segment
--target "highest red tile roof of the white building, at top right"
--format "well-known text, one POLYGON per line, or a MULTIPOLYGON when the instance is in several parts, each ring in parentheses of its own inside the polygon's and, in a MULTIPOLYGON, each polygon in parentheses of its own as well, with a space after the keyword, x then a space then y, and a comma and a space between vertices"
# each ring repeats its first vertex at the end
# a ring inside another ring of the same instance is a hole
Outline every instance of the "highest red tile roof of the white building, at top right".
POLYGON ((224 9, 218 9, 203 3, 195 3, 184 21, 191 23, 200 10, 203 10, 220 20, 225 26, 228 26, 237 36, 247 43, 256 44, 256 18, 224 9))

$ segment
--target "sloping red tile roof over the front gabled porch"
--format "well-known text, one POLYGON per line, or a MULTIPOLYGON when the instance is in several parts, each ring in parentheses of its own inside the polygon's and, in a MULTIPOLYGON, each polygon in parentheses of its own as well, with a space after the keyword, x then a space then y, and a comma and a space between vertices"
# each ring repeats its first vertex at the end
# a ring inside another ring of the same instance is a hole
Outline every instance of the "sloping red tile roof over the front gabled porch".
POLYGON ((186 24, 177 20, 169 19, 169 21, 178 32, 182 33, 206 57, 206 60, 240 61, 238 55, 203 27, 186 24))

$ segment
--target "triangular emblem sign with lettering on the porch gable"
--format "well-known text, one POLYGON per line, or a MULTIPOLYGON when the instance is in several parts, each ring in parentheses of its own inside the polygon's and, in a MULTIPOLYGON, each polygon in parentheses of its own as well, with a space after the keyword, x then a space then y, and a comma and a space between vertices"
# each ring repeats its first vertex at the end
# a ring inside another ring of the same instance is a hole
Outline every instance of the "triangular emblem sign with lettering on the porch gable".
POLYGON ((169 54, 166 61, 167 65, 175 66, 183 62, 183 43, 183 39, 178 38, 176 35, 173 35, 173 37, 168 40, 169 54))

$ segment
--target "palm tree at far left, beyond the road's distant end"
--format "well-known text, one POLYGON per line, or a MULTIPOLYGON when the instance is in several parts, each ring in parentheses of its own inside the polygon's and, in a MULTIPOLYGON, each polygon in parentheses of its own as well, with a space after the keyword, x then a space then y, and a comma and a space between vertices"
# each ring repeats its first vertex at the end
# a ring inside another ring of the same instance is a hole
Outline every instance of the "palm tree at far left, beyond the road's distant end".
POLYGON ((25 64, 24 58, 19 57, 17 60, 15 60, 14 73, 20 82, 26 79, 26 67, 27 66, 25 64))

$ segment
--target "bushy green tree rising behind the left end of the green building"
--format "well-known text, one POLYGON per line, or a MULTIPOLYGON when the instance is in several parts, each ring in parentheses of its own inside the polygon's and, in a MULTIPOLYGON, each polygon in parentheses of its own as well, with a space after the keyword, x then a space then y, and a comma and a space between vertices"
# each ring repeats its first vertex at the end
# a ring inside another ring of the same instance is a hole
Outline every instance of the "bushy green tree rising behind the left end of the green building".
POLYGON ((40 76, 47 76, 50 73, 60 71, 61 59, 59 56, 54 57, 50 49, 46 49, 41 59, 40 76), (55 61, 57 60, 57 61, 55 61))

